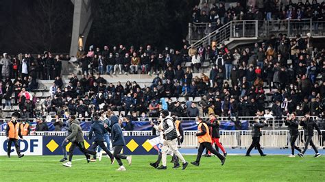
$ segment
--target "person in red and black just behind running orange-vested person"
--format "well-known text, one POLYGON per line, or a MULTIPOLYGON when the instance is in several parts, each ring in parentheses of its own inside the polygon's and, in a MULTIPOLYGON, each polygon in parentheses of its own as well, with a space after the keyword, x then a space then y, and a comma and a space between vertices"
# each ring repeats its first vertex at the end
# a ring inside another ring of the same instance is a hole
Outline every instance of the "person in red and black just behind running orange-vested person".
MULTIPOLYGON (((212 144, 216 144, 221 149, 221 151, 224 153, 224 157, 226 157, 227 156, 226 150, 225 150, 224 146, 222 146, 222 144, 219 141, 219 138, 220 138, 220 132, 219 132, 220 121, 217 120, 215 114, 210 114, 209 117, 210 117, 210 122, 206 122, 206 125, 208 125, 208 127, 210 127, 212 144)), ((208 154, 210 155, 210 151, 208 151, 208 154)))

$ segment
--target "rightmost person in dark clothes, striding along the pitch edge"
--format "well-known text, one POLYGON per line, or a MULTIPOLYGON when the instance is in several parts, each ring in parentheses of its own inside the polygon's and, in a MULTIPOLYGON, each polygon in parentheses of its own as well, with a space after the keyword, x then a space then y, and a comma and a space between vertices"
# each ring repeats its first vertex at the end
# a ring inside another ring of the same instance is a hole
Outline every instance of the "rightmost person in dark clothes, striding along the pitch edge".
POLYGON ((314 157, 320 157, 321 154, 318 153, 318 150, 313 143, 313 135, 314 135, 314 128, 317 130, 319 135, 322 135, 322 132, 320 131, 320 128, 317 126, 317 123, 309 116, 309 114, 305 114, 304 118, 302 118, 302 121, 300 122, 300 125, 304 127, 304 135, 306 135, 306 143, 304 144, 304 151, 302 153, 298 153, 299 157, 304 157, 304 153, 308 149, 308 145, 311 144, 311 147, 313 147, 315 151, 314 157))

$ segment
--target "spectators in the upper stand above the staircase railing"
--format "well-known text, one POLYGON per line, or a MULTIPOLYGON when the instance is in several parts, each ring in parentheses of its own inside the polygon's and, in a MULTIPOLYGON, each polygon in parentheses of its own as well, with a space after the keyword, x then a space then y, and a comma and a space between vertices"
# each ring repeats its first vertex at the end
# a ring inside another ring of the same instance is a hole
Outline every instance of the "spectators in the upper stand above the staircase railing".
MULTIPOLYGON (((318 31, 320 22, 325 21, 325 3, 318 3, 313 0, 311 3, 307 0, 305 3, 293 3, 291 1, 285 3, 276 0, 257 0, 248 1, 247 4, 237 2, 235 7, 230 7, 226 10, 224 2, 217 3, 203 3, 199 8, 196 5, 193 8, 192 18, 193 23, 209 23, 208 27, 194 26, 195 32, 200 34, 209 34, 210 32, 222 27, 230 21, 278 21, 278 28, 286 27, 286 20, 296 20, 291 29, 302 29, 302 27, 309 26, 304 19, 311 18, 313 20, 313 28, 315 33, 318 31), (282 23, 281 23, 282 21, 282 23)), ((261 23, 263 25, 263 23, 261 23)))

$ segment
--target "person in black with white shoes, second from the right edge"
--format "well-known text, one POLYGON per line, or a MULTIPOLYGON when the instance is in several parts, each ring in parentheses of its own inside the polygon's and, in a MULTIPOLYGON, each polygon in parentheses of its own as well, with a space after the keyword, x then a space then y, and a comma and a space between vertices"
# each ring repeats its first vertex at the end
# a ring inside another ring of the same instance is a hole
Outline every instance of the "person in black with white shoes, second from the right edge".
POLYGON ((291 116, 288 117, 287 120, 285 120, 285 125, 288 126, 290 132, 291 155, 289 155, 289 157, 295 157, 295 149, 301 153, 301 149, 295 145, 299 134, 299 122, 296 118, 296 112, 293 112, 291 116))

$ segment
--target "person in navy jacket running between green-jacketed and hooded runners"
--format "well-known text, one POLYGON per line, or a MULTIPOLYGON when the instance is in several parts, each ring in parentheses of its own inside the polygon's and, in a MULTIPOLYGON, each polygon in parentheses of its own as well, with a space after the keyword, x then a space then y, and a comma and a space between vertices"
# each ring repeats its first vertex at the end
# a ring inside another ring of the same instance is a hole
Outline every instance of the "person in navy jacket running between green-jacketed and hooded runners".
MULTIPOLYGON (((107 130, 105 129, 103 123, 99 120, 99 116, 95 116, 93 124, 91 125, 91 130, 89 131, 89 140, 93 138, 93 133, 95 133, 95 141, 91 148, 93 148, 93 151, 96 151, 97 146, 103 148, 106 154, 110 157, 110 164, 113 164, 114 157, 104 144, 104 134, 107 133, 107 130)), ((96 161, 96 158, 94 160, 96 161)))

